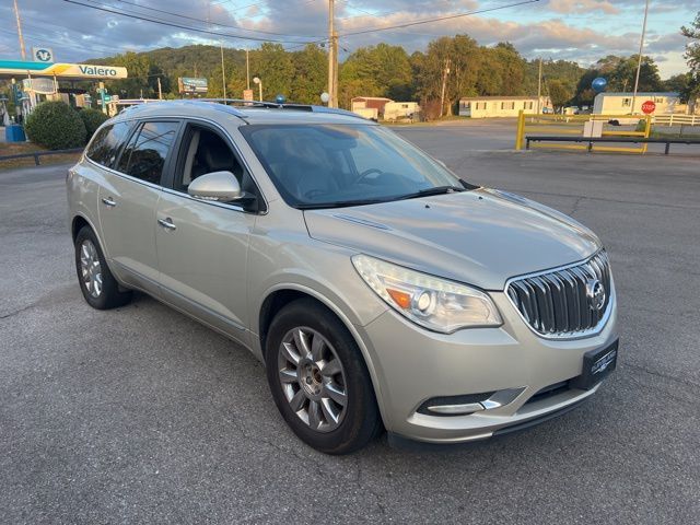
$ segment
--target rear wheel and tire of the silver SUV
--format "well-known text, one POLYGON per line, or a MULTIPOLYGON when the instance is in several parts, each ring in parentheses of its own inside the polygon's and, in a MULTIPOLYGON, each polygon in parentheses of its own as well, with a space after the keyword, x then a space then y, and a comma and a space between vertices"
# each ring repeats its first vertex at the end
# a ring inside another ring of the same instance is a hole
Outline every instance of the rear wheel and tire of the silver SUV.
POLYGON ((95 232, 83 226, 75 236, 75 271, 80 291, 89 305, 96 310, 124 306, 131 301, 131 292, 119 290, 100 247, 95 232))

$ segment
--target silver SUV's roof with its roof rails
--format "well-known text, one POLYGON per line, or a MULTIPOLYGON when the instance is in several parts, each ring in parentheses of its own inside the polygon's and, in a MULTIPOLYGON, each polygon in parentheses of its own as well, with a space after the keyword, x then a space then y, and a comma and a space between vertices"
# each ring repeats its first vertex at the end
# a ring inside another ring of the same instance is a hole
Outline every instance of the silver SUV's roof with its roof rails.
POLYGON ((273 102, 256 102, 253 103, 255 105, 250 106, 233 106, 224 102, 238 103, 238 101, 232 100, 161 101, 127 107, 125 110, 119 113, 115 119, 183 116, 201 116, 217 119, 226 115, 230 117, 237 117, 247 124, 360 124, 358 120, 361 120, 364 124, 374 124, 355 113, 325 106, 277 104, 273 102))

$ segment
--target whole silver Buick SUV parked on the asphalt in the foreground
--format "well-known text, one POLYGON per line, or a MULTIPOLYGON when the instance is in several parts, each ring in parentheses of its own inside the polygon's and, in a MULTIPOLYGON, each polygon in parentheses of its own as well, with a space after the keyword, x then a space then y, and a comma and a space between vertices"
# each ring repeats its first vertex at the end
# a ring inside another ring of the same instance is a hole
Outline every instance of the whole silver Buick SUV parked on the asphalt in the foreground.
POLYGON ((615 369, 615 288, 590 230, 351 113, 137 106, 67 184, 85 301, 139 290, 247 347, 319 451, 383 428, 393 443, 511 432, 615 369))

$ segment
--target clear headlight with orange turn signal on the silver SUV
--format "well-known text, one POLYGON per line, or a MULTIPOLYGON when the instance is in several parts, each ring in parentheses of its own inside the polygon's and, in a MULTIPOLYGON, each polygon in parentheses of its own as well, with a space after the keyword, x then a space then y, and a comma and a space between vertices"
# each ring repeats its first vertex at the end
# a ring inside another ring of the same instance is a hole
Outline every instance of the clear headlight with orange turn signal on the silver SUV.
POLYGON ((503 324, 491 299, 474 288, 366 255, 355 255, 352 264, 389 306, 431 330, 452 334, 459 328, 503 324))

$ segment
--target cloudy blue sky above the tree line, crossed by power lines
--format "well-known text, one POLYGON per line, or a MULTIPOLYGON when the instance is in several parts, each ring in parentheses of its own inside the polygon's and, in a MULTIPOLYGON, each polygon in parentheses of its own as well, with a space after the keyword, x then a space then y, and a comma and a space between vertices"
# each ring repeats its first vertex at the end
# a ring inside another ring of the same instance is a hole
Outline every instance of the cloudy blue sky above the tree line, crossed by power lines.
MULTIPOLYGON (((56 60, 66 62, 127 50, 220 42, 226 47, 253 49, 269 39, 288 49, 299 49, 303 43, 323 40, 328 32, 327 0, 16 1, 27 52, 32 46, 50 47, 56 60), (159 25, 109 11, 185 27, 159 25), (225 36, 198 33, 192 27, 225 36)), ((335 3, 341 60, 358 47, 381 42, 401 45, 412 52, 423 50, 439 36, 468 34, 481 45, 511 42, 526 58, 575 60, 587 67, 606 55, 635 54, 644 14, 644 0, 336 0, 335 3), (463 13, 474 14, 380 31, 389 25, 463 13), (363 33, 352 35, 353 32, 363 33)), ((690 24, 699 11, 699 0, 651 0, 644 54, 656 60, 662 78, 687 71, 682 58, 687 38, 680 34, 680 26, 690 24)), ((0 59, 20 59, 11 0, 0 0, 0 20, 3 21, 0 59)))

